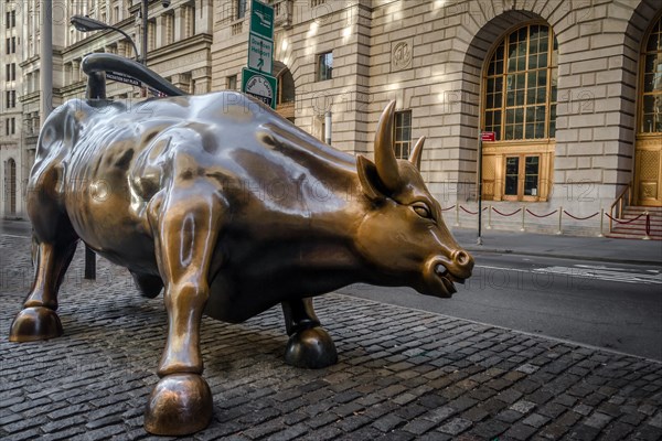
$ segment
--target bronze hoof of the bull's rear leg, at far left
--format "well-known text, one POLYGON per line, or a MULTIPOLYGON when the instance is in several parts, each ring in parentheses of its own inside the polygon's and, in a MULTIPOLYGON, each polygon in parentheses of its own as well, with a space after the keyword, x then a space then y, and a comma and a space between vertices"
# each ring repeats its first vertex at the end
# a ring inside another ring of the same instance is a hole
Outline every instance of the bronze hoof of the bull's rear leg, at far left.
POLYGON ((36 342, 62 335, 62 323, 57 313, 49 308, 25 308, 11 323, 10 342, 36 342))

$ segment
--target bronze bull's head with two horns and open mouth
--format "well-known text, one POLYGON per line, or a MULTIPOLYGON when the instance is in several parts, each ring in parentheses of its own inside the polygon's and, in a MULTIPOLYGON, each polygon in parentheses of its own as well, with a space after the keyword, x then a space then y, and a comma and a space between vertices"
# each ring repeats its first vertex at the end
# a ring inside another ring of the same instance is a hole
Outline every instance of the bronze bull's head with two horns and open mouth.
POLYGON ((387 284, 407 284, 424 294, 450 297, 453 282, 471 276, 473 258, 455 241, 441 218, 441 207, 420 176, 425 138, 408 161, 393 149, 395 101, 377 125, 375 162, 357 158, 357 172, 369 212, 357 230, 356 246, 387 284))

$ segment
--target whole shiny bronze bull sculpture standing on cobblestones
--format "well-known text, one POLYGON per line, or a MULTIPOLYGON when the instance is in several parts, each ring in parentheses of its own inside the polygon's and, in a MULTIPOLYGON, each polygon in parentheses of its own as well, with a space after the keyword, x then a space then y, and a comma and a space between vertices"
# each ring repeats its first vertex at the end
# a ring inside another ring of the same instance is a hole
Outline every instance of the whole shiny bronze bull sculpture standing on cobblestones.
POLYGON ((424 140, 396 160, 394 107, 380 119, 372 162, 235 93, 130 109, 64 104, 38 142, 28 192, 36 269, 10 340, 62 334, 57 290, 83 240, 128 268, 143 295, 164 288, 168 338, 145 427, 177 435, 212 417, 203 313, 237 323, 280 303, 286 361, 319 368, 338 355, 312 297, 354 282, 450 297, 473 260, 423 182, 424 140))

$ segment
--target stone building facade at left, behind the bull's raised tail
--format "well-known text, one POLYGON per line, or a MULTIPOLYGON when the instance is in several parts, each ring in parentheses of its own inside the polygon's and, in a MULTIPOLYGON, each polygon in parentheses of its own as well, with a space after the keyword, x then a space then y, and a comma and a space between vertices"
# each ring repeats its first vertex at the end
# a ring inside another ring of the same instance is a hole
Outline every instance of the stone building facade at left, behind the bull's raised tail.
MULTIPOLYGON (((6 82, 0 77, 4 89, 15 90, 15 108, 2 107, 0 125, 7 118, 15 120, 15 135, 0 141, 0 158, 17 164, 17 183, 11 174, 3 174, 3 204, 1 213, 6 217, 25 217, 24 190, 34 162, 34 149, 39 129, 43 121, 41 99, 56 107, 71 98, 85 96, 86 78, 81 71, 81 62, 87 54, 106 52, 127 57, 136 57, 132 44, 113 30, 83 33, 70 22, 75 14, 87 15, 125 31, 141 47, 141 0, 53 0, 53 92, 42 97, 40 57, 42 0, 2 1, 8 11, 15 10, 15 26, 0 28, 3 36, 2 74, 4 74, 4 42, 17 37, 17 53, 8 63, 17 64, 17 80, 6 82), (7 34, 7 36, 6 36, 7 34), (9 201, 9 202, 7 202, 9 201), (15 201, 15 207, 13 204, 15 201), (11 204, 10 204, 11 202, 11 204), (13 211, 12 211, 13 208, 13 211)), ((148 66, 163 77, 192 94, 204 94, 211 89, 210 50, 212 44, 212 0, 171 0, 168 6, 160 0, 149 1, 148 14, 148 66)), ((12 20, 13 17, 12 15, 12 20)), ((4 15, 3 15, 4 20, 4 15)), ((13 21, 12 21, 13 24, 13 21)), ((13 46, 12 46, 13 49, 13 46)), ((108 82, 107 96, 110 99, 141 99, 142 92, 130 85, 108 82)), ((4 135, 4 126, 2 133, 4 135)), ((8 169, 11 170, 11 169, 8 169)), ((4 173, 4 172, 3 172, 4 173)))

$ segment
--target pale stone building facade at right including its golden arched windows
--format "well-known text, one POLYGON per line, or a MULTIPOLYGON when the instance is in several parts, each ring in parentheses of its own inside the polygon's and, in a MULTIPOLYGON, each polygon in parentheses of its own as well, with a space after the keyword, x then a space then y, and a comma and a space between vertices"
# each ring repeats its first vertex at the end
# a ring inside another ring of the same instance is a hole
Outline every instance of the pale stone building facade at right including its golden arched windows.
MULTIPOLYGON (((246 63, 244 3, 216 3, 213 89, 235 87, 246 63)), ((661 3, 271 3, 275 65, 291 75, 296 125, 321 137, 331 110, 332 143, 370 154, 378 115, 396 99, 396 151, 427 137, 423 174, 444 207, 476 211, 481 131, 495 132, 483 142, 483 200, 502 213, 563 207, 586 217, 608 211, 630 183, 632 203, 662 205, 661 3), (331 78, 321 75, 329 58, 331 78)), ((465 211, 448 214, 476 225, 465 211)), ((566 216, 564 230, 597 233, 599 216, 591 219, 566 216)), ((535 228, 556 223, 536 219, 535 228)))

